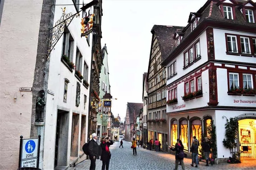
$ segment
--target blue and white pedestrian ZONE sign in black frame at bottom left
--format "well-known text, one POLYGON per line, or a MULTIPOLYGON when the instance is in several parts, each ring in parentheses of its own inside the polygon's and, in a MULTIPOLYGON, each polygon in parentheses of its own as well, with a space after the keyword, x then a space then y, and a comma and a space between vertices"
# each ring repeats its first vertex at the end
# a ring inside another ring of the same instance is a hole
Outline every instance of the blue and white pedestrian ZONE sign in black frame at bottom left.
POLYGON ((40 139, 40 135, 38 138, 30 139, 23 139, 23 136, 20 136, 19 168, 38 168, 40 139))

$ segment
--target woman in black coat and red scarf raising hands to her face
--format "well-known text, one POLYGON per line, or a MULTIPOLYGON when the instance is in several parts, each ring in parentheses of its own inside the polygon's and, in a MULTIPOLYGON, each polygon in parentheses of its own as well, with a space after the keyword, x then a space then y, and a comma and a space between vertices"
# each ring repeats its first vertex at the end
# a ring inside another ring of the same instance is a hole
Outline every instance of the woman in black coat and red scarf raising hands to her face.
POLYGON ((106 170, 108 170, 108 167, 109 167, 109 161, 111 158, 111 153, 109 150, 110 145, 113 145, 113 141, 109 140, 109 137, 107 138, 103 137, 100 143, 100 147, 102 149, 101 156, 100 156, 100 160, 102 161, 102 167, 101 167, 102 170, 105 170, 105 167, 106 167, 106 170))

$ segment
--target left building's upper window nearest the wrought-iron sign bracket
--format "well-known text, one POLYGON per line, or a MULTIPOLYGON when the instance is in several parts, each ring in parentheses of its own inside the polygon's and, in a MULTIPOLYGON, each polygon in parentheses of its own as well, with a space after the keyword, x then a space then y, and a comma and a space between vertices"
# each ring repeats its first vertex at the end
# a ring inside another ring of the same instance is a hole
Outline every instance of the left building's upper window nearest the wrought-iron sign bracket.
POLYGON ((67 55, 70 61, 73 60, 73 49, 74 49, 74 39, 69 33, 69 30, 65 28, 63 34, 62 43, 62 55, 67 55))

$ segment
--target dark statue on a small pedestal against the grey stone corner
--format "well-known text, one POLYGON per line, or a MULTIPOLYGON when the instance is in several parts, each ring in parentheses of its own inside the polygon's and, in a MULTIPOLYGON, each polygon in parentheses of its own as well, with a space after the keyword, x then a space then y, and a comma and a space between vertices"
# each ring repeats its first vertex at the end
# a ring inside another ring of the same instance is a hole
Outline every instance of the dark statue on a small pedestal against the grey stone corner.
POLYGON ((43 113, 44 113, 44 106, 45 106, 45 99, 44 99, 44 95, 45 92, 44 90, 40 90, 38 92, 39 96, 36 99, 36 115, 37 115, 37 119, 36 122, 43 122, 43 113))

